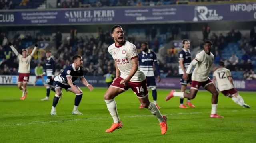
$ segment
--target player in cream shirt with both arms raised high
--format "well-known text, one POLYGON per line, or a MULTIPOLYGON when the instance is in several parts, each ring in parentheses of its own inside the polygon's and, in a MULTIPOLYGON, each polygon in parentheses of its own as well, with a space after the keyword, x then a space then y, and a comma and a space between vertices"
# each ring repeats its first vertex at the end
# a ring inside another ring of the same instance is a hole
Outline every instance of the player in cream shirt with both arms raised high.
POLYGON ((12 43, 9 43, 9 46, 19 59, 18 88, 22 91, 22 96, 20 99, 24 100, 28 93, 27 92, 27 84, 28 84, 29 76, 30 76, 30 61, 37 49, 37 44, 35 45, 35 47, 30 55, 28 55, 28 50, 26 50, 26 49, 22 49, 22 55, 21 55, 18 53, 18 51, 15 49, 15 47, 13 47, 12 43))

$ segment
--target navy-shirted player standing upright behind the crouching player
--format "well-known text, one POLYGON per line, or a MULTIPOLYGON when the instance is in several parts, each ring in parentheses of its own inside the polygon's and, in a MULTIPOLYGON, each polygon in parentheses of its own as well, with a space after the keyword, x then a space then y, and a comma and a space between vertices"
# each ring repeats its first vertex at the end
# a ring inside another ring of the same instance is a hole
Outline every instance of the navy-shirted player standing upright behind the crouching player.
POLYGON ((51 51, 47 50, 46 51, 46 68, 44 71, 43 75, 47 76, 46 79, 46 97, 41 99, 42 101, 44 100, 49 100, 49 96, 50 96, 50 91, 52 90, 53 92, 55 92, 54 90, 54 86, 53 86, 53 82, 54 82, 54 73, 55 73, 55 61, 54 59, 51 57, 51 51))

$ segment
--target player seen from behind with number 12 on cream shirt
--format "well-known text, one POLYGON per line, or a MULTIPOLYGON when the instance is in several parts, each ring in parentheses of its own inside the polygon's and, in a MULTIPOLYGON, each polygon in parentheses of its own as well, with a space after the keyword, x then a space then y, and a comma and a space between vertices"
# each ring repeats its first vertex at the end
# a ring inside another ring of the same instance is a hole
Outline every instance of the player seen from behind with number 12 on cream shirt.
POLYGON ((250 108, 248 104, 244 103, 244 99, 239 95, 238 91, 234 88, 233 79, 231 72, 224 68, 224 62, 219 62, 219 67, 213 73, 213 83, 218 87, 218 90, 227 97, 232 98, 232 100, 244 107, 250 108))

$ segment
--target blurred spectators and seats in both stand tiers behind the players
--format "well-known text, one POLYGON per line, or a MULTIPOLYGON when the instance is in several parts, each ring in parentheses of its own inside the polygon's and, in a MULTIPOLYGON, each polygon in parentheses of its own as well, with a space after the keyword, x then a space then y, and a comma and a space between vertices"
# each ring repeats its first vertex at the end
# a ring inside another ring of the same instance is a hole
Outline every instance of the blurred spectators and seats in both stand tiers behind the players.
MULTIPOLYGON (((57 8, 102 7, 102 6, 155 6, 162 4, 188 4, 195 1, 176 0, 57 0, 57 8)), ((202 2, 203 0, 201 0, 202 2)), ((207 0, 205 0, 207 1, 207 0)), ((214 1, 211 1, 214 2, 214 1)), ((1 9, 45 8, 44 0, 0 0, 1 9)), ((256 79, 256 24, 251 27, 236 29, 218 29, 214 24, 133 24, 124 25, 125 39, 136 45, 140 52, 141 42, 148 42, 149 48, 158 55, 162 77, 179 77, 178 52, 182 48, 182 39, 190 40, 192 57, 202 50, 202 43, 210 39, 214 48, 214 66, 220 60, 225 61, 226 68, 232 71, 237 79, 256 79), (190 28, 188 28, 190 27, 190 28), (200 28, 198 28, 200 27, 200 28)), ((40 46, 51 45, 52 57, 56 62, 58 75, 70 63, 72 56, 82 55, 84 71, 88 76, 103 76, 113 73, 114 60, 108 53, 108 46, 114 40, 110 26, 94 25, 92 31, 86 26, 45 27, 2 27, 0 28, 0 74, 18 75, 18 61, 8 46, 11 41, 18 51, 40 43, 40 46)), ((31 51, 30 51, 31 52, 31 51)), ((33 56, 31 73, 37 63, 45 66, 44 50, 33 56)))

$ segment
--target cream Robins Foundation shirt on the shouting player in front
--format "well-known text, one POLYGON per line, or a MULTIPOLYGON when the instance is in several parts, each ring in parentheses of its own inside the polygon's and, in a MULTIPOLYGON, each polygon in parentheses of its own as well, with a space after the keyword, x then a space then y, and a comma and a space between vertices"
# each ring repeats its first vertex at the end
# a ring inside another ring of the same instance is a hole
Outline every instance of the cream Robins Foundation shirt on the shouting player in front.
MULTIPOLYGON (((120 77, 125 79, 128 77, 132 70, 132 59, 138 58, 138 51, 136 46, 129 41, 124 41, 121 46, 116 46, 115 43, 108 47, 108 53, 112 55, 116 61, 117 67, 121 72, 120 77)), ((131 78, 131 82, 142 82, 146 79, 144 72, 138 68, 134 76, 131 78)))

